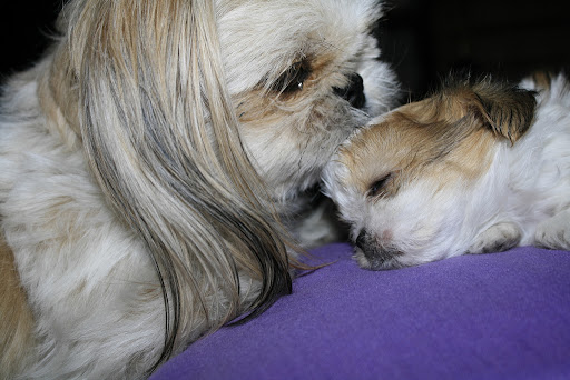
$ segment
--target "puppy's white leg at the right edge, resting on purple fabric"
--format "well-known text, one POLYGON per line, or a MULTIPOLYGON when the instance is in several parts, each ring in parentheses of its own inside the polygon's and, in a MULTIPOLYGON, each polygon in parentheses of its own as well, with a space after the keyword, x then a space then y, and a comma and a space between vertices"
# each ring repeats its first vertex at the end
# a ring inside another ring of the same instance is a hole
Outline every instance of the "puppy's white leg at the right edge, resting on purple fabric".
POLYGON ((570 249, 570 209, 544 220, 537 227, 537 246, 550 249, 570 249))

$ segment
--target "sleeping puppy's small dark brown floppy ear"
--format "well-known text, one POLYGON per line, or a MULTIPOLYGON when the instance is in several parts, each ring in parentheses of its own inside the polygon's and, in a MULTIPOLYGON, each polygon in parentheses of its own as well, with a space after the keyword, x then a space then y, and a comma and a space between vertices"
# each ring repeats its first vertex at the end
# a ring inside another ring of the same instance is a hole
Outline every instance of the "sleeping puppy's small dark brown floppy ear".
POLYGON ((497 136, 514 143, 529 129, 537 106, 534 92, 489 81, 475 84, 473 91, 472 110, 497 136))

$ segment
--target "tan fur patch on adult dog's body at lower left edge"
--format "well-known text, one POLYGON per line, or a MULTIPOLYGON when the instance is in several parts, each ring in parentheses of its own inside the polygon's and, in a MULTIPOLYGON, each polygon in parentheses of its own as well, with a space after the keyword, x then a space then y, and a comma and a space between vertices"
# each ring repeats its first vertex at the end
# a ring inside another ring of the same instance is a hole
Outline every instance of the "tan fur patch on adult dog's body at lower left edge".
POLYGON ((0 379, 12 379, 30 356, 33 318, 13 261, 0 234, 0 379))

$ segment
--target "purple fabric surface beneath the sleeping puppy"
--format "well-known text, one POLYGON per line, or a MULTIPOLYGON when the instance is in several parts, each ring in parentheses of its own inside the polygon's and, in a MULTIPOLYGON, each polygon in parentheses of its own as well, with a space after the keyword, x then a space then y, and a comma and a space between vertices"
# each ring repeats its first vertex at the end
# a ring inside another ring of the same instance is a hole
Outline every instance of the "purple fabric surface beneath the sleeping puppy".
POLYGON ((394 271, 337 260, 161 379, 570 379, 570 252, 517 248, 394 271))

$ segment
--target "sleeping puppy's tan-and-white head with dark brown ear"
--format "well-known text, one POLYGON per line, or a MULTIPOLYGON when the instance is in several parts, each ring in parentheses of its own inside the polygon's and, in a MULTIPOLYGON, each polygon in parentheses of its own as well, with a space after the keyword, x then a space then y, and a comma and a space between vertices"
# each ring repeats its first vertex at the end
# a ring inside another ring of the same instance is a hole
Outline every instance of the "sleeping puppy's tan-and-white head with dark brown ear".
POLYGON ((470 214, 487 201, 476 189, 493 153, 524 133, 534 106, 532 92, 511 86, 455 82, 356 132, 324 180, 358 263, 377 270, 463 253, 482 227, 470 214))

